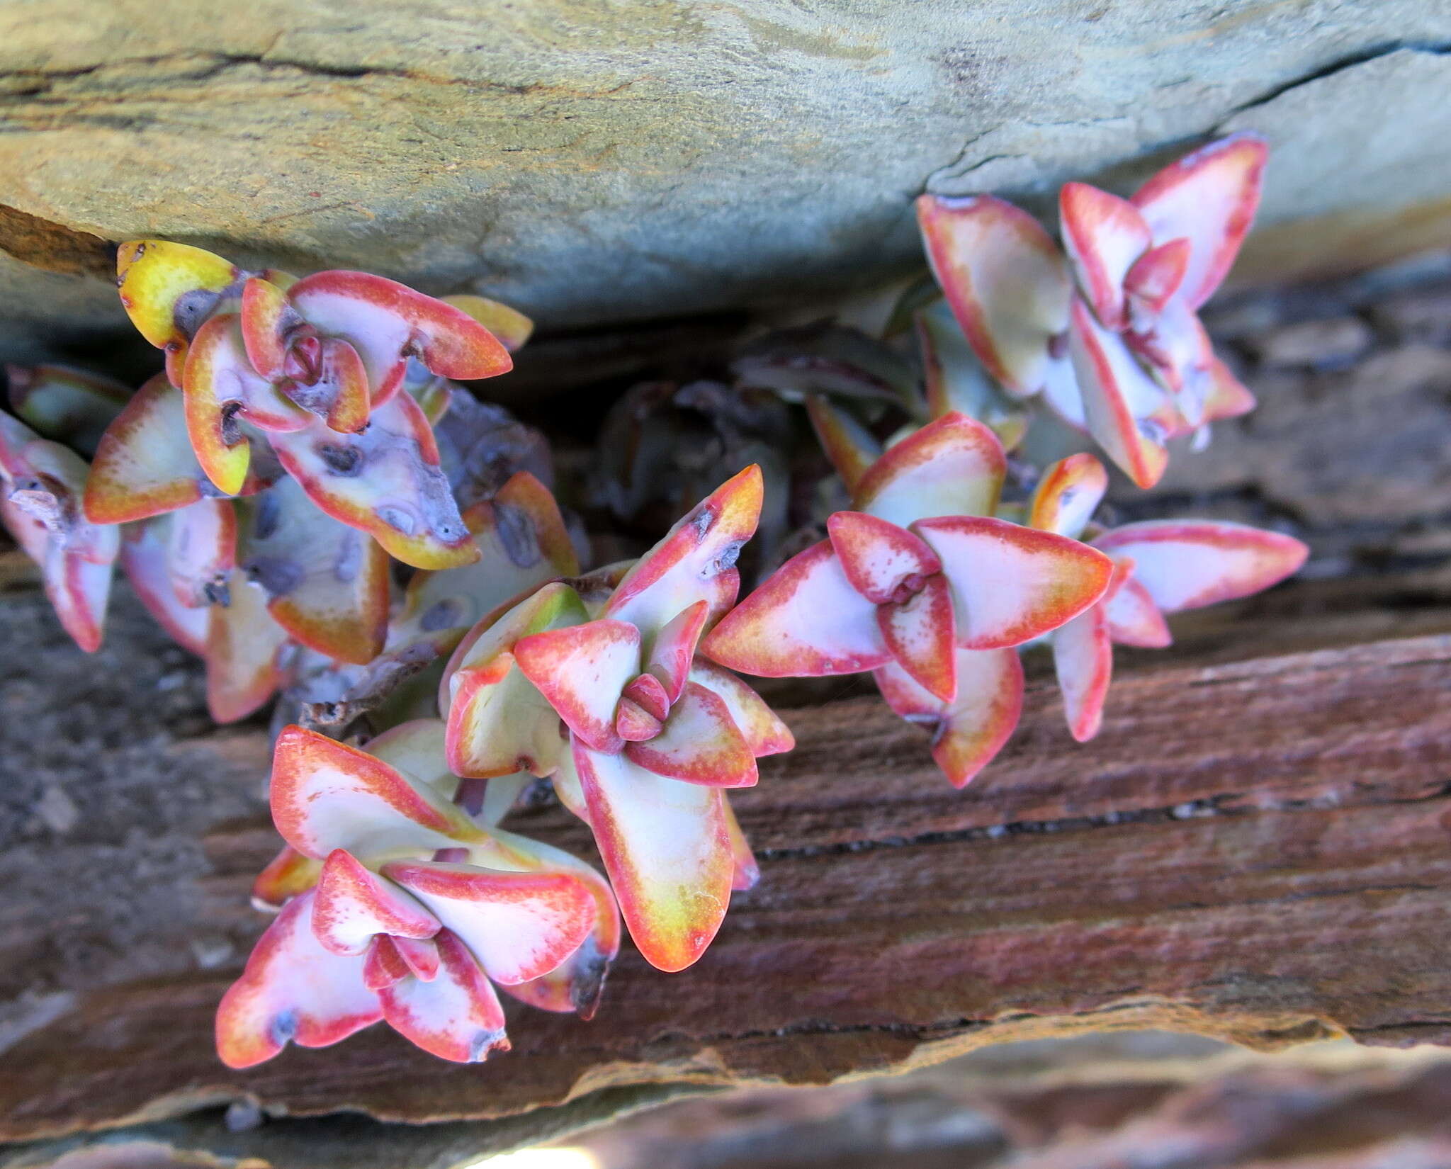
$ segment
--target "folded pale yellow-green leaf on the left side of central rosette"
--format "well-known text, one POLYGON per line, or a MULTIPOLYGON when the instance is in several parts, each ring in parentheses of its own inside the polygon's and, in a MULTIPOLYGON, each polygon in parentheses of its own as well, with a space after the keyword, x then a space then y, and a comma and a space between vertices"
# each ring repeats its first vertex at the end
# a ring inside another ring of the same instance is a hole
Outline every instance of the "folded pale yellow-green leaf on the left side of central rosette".
MULTIPOLYGON (((514 661, 514 644, 530 634, 577 625, 588 618, 567 584, 546 584, 467 638, 448 663, 448 766, 457 776, 548 774, 563 741, 559 715, 514 661)), ((483 622, 480 622, 483 624, 483 622)), ((618 695, 617 695, 618 698, 618 695)))

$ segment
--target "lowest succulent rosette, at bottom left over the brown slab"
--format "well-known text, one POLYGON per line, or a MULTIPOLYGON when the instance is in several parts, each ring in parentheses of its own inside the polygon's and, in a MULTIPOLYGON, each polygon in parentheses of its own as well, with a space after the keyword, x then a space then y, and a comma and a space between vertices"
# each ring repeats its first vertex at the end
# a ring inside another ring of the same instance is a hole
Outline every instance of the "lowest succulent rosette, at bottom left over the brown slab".
POLYGON ((254 895, 280 912, 218 1008, 229 1066, 380 1020, 435 1056, 482 1060, 509 1046, 495 986, 593 1012, 620 941, 608 886, 451 802, 443 735, 428 719, 367 751, 300 727, 279 737, 271 808, 287 847, 254 895))

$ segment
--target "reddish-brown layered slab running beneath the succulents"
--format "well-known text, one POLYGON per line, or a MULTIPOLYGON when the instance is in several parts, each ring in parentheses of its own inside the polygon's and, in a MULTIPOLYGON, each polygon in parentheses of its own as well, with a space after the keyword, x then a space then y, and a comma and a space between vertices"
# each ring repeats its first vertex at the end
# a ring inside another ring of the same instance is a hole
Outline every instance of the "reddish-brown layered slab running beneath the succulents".
MULTIPOLYGON (((292 1115, 505 1117, 650 1082, 821 1083, 1104 1027, 1451 1043, 1448 679, 1448 632, 1129 669, 1085 747, 1037 683, 1014 743, 965 792, 872 699, 789 711, 797 750, 734 801, 762 882, 691 970, 625 953, 595 1021, 517 1011, 514 1050, 483 1066, 373 1028, 245 1073, 210 1046, 244 950, 97 972, 4 1052, 0 1134, 244 1098, 292 1115)), ((266 766, 260 734, 180 750, 199 785, 266 766)), ((588 854, 559 809, 524 819, 588 854)), ((171 941, 255 934, 245 891, 274 846, 260 817, 215 825, 171 941)), ((46 908, 49 944, 87 928, 71 889, 46 908)), ((25 928, 33 915, 7 927, 7 980, 44 951, 25 928)))

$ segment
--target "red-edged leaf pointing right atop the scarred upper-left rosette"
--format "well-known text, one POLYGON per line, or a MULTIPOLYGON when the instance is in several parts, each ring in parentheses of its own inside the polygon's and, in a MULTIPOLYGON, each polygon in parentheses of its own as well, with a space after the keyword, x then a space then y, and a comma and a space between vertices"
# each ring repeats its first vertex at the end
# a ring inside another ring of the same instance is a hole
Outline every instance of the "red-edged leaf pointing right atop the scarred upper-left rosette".
POLYGON ((409 357, 456 380, 495 377, 514 365, 508 350, 463 309, 382 276, 316 273, 287 296, 318 332, 357 350, 374 406, 393 397, 409 357))

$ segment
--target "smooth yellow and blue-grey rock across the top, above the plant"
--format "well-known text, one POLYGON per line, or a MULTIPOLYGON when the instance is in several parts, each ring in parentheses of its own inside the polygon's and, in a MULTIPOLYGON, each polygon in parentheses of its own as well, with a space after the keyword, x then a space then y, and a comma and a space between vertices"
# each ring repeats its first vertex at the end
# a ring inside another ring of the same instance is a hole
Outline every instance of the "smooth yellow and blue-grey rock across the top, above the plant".
POLYGON ((0 355, 125 332, 107 244, 476 289, 547 326, 914 263, 913 196, 1275 149, 1248 271, 1448 242, 1445 0, 9 0, 0 355))

